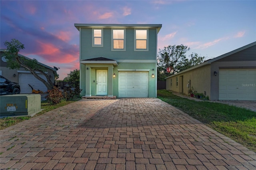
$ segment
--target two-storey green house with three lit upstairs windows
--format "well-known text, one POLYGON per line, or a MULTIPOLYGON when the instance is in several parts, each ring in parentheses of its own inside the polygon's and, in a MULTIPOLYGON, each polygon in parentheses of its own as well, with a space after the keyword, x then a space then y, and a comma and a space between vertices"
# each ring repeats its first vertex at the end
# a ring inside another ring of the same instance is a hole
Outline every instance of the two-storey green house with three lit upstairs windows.
POLYGON ((74 24, 80 32, 82 96, 156 97, 162 24, 74 24))

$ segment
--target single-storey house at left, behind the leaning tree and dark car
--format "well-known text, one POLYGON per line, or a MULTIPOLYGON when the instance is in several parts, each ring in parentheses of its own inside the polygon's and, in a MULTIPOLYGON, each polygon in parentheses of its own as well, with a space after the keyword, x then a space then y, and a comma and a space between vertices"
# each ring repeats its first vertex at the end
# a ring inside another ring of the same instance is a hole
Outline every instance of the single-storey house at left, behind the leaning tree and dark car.
MULTIPOLYGON (((23 67, 20 67, 19 70, 16 69, 10 69, 7 68, 7 63, 6 63, 6 59, 4 57, 4 49, 0 50, 1 52, 1 58, 0 58, 0 75, 4 76, 5 78, 7 78, 8 80, 12 81, 12 82, 17 82, 20 84, 20 93, 32 93, 32 88, 30 86, 28 86, 28 84, 30 84, 34 90, 41 90, 43 92, 47 92, 47 88, 46 86, 38 79, 36 79, 31 72, 26 71, 23 67)), ((30 58, 23 56, 21 54, 18 54, 18 56, 24 57, 28 60, 31 60, 30 58)), ((51 76, 51 80, 54 83, 54 75, 57 74, 56 70, 54 68, 51 68, 49 66, 46 66, 45 64, 42 64, 40 62, 38 62, 38 64, 40 64, 41 66, 44 66, 46 69, 46 74, 48 74, 49 76, 51 76)), ((43 76, 42 74, 38 75, 42 78, 44 78, 44 80, 46 80, 46 77, 43 76)))

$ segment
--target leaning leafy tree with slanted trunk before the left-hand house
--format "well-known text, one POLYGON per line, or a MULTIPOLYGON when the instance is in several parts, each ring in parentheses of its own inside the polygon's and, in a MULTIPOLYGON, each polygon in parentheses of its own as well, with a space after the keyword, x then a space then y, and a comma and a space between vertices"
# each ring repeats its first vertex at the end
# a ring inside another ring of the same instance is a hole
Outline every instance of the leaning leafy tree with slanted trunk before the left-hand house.
POLYGON ((28 60, 22 56, 18 56, 18 52, 20 50, 25 49, 24 44, 19 42, 16 39, 12 39, 10 42, 4 42, 6 46, 6 50, 4 51, 4 55, 7 62, 7 67, 10 69, 20 69, 20 67, 24 67, 25 70, 30 71, 32 75, 40 80, 48 90, 52 90, 54 88, 53 82, 50 80, 50 77, 45 73, 46 69, 38 64, 38 61, 34 58, 32 60, 28 60), (41 73, 46 77, 46 80, 38 76, 36 72, 41 73))

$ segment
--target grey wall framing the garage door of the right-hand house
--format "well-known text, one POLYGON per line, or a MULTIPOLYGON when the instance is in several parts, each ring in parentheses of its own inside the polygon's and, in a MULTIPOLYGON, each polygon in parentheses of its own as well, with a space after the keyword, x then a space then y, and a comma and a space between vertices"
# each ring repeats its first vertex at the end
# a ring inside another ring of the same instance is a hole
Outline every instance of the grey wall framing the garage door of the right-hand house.
POLYGON ((214 76, 214 71, 219 73, 219 69, 244 69, 256 68, 256 61, 226 61, 220 62, 219 60, 211 63, 211 98, 210 100, 219 100, 219 76, 214 76))

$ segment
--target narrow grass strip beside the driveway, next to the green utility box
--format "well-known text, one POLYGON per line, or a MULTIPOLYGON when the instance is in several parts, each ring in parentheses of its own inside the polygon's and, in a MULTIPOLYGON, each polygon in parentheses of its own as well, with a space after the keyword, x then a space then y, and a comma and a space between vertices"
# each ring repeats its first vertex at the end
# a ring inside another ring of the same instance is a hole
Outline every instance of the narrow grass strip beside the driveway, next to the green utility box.
MULTIPOLYGON (((35 116, 42 115, 46 112, 49 112, 50 110, 54 110, 56 108, 59 108, 61 106, 65 106, 67 104, 70 104, 72 102, 78 101, 80 98, 74 100, 74 101, 62 101, 58 104, 51 105, 47 100, 41 102, 41 108, 44 109, 41 112, 37 113, 35 116)), ((35 117, 34 116, 34 117, 35 117)), ((8 128, 10 126, 13 126, 14 124, 18 124, 24 120, 30 119, 30 116, 20 116, 20 117, 6 117, 0 119, 0 130, 8 128)))

